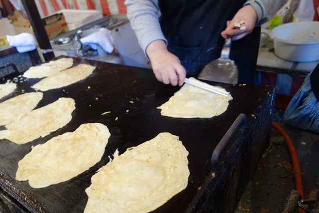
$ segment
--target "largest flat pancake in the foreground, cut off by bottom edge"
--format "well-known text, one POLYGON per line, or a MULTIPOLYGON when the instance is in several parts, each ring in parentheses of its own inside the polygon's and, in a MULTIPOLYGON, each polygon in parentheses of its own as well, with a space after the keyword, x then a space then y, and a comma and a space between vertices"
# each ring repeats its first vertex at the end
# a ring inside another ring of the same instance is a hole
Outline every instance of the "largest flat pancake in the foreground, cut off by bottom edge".
POLYGON ((148 213, 186 188, 188 152, 177 136, 160 133, 92 176, 85 213, 148 213))

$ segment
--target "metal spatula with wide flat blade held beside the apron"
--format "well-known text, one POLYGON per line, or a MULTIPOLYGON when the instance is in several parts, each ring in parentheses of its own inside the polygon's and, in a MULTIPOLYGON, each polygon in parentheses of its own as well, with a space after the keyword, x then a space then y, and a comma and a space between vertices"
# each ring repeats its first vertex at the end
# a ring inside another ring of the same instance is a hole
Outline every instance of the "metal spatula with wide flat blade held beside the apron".
POLYGON ((200 72, 198 79, 222 83, 238 83, 238 67, 229 59, 231 37, 225 40, 220 57, 209 62, 200 72))

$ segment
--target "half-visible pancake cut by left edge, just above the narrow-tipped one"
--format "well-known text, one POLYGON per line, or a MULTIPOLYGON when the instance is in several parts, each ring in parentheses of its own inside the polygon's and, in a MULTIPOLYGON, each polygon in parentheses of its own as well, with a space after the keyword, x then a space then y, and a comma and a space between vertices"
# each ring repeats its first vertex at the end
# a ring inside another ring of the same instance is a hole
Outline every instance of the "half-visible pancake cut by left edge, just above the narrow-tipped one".
POLYGON ((6 125, 19 116, 31 112, 42 97, 42 92, 30 92, 15 96, 0 103, 0 126, 6 125))

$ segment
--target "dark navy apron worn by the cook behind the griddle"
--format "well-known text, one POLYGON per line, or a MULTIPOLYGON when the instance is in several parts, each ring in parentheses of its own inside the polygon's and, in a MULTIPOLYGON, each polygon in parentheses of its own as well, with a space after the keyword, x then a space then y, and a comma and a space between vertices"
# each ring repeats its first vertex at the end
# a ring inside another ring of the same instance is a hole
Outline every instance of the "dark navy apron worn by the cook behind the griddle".
MULTIPOLYGON (((160 25, 168 50, 176 55, 187 75, 198 76, 210 61, 219 58, 226 28, 246 0, 159 0, 160 25)), ((260 27, 232 41, 230 59, 239 69, 239 82, 252 83, 256 68, 260 27)))

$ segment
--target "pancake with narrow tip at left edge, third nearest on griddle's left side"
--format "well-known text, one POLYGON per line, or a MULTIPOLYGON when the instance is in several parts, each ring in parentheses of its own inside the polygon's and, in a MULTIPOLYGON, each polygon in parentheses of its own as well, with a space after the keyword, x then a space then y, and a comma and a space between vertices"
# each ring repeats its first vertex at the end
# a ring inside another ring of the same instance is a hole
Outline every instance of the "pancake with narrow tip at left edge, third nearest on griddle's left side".
POLYGON ((72 98, 59 98, 5 125, 7 130, 0 131, 0 140, 7 139, 16 144, 25 144, 45 137, 69 123, 74 109, 75 101, 72 98))

